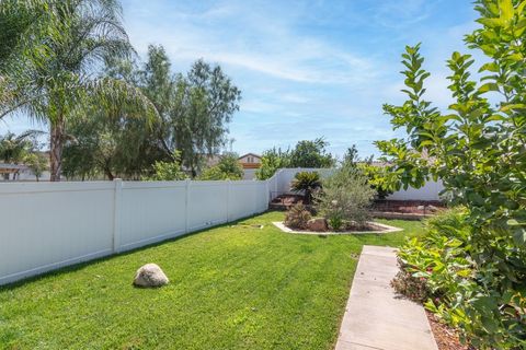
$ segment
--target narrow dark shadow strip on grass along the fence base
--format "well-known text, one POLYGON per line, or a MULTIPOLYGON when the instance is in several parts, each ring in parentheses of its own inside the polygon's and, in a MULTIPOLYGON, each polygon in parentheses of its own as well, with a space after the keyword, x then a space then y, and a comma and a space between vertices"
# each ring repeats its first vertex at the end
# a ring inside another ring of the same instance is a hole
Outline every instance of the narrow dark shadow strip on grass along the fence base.
POLYGON ((242 218, 242 219, 238 219, 238 220, 235 220, 235 221, 225 222, 222 224, 218 224, 218 225, 215 225, 215 226, 209 226, 209 228, 201 229, 201 230, 188 232, 188 233, 183 233, 183 234, 181 234, 179 236, 175 236, 175 237, 171 237, 171 238, 167 238, 167 240, 163 240, 163 241, 150 243, 150 244, 144 245, 141 247, 133 248, 133 249, 129 249, 129 250, 126 250, 126 252, 108 254, 106 256, 99 257, 99 258, 95 258, 95 259, 77 262, 77 264, 73 264, 73 265, 70 265, 70 266, 65 266, 65 267, 60 267, 60 268, 57 268, 57 269, 54 269, 54 270, 50 270, 50 271, 46 271, 46 272, 42 272, 42 273, 38 273, 38 275, 35 275, 35 276, 26 277, 26 278, 23 278, 21 280, 0 285, 0 293, 5 292, 5 291, 13 291, 13 290, 16 290, 16 289, 19 289, 19 288, 21 288, 21 287, 23 287, 27 283, 32 283, 32 282, 35 282, 35 281, 47 279, 47 278, 53 277, 53 276, 60 276, 60 275, 65 275, 65 273, 69 273, 69 272, 79 271, 79 270, 82 270, 83 268, 85 268, 90 265, 93 265, 93 264, 107 261, 107 260, 112 260, 112 259, 117 258, 117 257, 135 254, 135 253, 141 252, 141 250, 146 250, 146 249, 149 249, 149 248, 153 248, 153 247, 163 245, 165 243, 176 242, 179 240, 187 238, 187 237, 191 237, 193 235, 196 235, 196 234, 199 234, 199 233, 203 233, 203 232, 237 225, 240 222, 243 222, 243 221, 247 221, 247 220, 266 214, 266 213, 272 212, 272 211, 273 210, 264 211, 264 212, 253 214, 253 215, 250 215, 250 217, 245 217, 245 218, 242 218))

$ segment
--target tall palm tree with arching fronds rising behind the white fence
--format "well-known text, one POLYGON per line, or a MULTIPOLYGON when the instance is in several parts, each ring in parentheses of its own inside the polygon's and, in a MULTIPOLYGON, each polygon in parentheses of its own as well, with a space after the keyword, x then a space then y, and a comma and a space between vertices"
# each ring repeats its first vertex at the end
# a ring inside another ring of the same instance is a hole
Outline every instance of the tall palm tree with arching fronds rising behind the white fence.
MULTIPOLYGON (((15 9, 23 1, 7 2, 15 9)), ((23 48, 18 51, 23 65, 0 67, 0 79, 2 70, 7 81, 10 77, 24 78, 23 89, 18 84, 8 90, 12 96, 3 93, 8 96, 4 98, 10 98, 4 114, 22 110, 37 121, 49 125, 50 180, 60 180, 67 122, 82 114, 85 106, 96 104, 113 109, 116 105, 126 104, 146 110, 149 116, 157 115, 157 112, 137 88, 121 80, 96 75, 98 69, 106 60, 126 58, 133 54, 122 25, 118 1, 30 2, 45 3, 46 14, 38 16, 35 25, 25 27, 26 35, 36 33, 35 36, 44 46, 20 38, 22 44, 14 45, 13 50, 16 52, 18 48, 23 48)), ((21 8, 24 12, 24 5, 21 8)), ((0 15, 3 15, 3 11, 0 11, 0 15)), ((0 31, 4 22, 8 21, 0 19, 0 31)))

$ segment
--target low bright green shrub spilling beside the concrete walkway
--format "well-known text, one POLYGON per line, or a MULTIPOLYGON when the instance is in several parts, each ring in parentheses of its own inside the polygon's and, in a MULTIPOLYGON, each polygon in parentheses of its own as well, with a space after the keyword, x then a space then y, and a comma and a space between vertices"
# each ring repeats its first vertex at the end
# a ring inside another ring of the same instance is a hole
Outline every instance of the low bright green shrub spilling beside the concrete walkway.
POLYGON ((495 291, 493 285, 504 276, 494 275, 498 260, 484 267, 476 262, 469 214, 457 208, 427 220, 425 235, 400 249, 402 272, 392 284, 409 298, 425 301, 477 348, 514 349, 526 339, 526 300, 516 290, 523 282, 510 284, 504 293, 495 291), (425 289, 412 284, 415 280, 425 281, 425 289))

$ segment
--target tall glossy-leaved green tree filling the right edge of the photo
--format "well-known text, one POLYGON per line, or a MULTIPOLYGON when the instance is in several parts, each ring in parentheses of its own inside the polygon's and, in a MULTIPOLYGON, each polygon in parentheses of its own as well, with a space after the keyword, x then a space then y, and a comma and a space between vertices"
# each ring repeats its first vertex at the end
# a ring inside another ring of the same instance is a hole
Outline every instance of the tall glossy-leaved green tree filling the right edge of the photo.
POLYGON ((477 348, 521 349, 526 345, 526 1, 474 3, 481 27, 466 43, 488 59, 479 67, 482 78, 471 79, 470 55, 454 52, 447 66, 455 102, 442 114, 424 97, 430 73, 420 45, 407 47, 408 100, 384 110, 408 137, 377 145, 396 162, 405 187, 441 178, 453 201, 467 208, 472 230, 465 252, 474 272, 427 306, 459 326, 477 348))

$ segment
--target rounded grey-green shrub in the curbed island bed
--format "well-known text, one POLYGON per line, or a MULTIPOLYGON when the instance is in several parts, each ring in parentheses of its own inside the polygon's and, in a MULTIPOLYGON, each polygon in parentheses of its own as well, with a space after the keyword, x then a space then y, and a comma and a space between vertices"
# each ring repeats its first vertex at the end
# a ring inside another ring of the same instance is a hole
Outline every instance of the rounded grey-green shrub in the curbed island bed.
POLYGON ((316 208, 333 230, 344 223, 364 225, 370 218, 368 207, 374 195, 367 176, 344 164, 323 182, 323 189, 316 195, 316 208))

